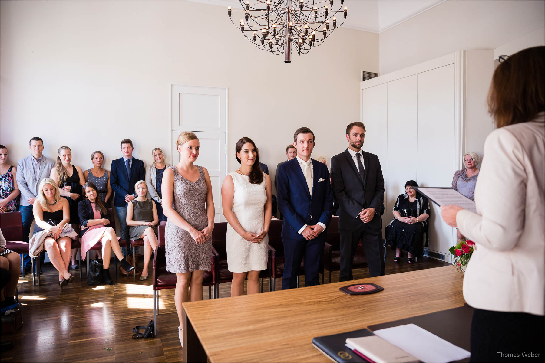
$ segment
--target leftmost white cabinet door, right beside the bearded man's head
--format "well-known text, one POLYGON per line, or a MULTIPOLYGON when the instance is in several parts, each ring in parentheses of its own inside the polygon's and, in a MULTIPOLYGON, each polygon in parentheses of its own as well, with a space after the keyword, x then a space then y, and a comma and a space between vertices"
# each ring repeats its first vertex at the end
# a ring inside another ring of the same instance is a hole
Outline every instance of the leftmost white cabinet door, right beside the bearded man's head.
MULTIPOLYGON (((365 141, 362 149, 378 156, 384 184, 386 180, 386 137, 387 137, 387 84, 360 91, 361 95, 361 122, 365 124, 365 141)), ((386 213, 382 216, 383 235, 386 223, 386 213)))

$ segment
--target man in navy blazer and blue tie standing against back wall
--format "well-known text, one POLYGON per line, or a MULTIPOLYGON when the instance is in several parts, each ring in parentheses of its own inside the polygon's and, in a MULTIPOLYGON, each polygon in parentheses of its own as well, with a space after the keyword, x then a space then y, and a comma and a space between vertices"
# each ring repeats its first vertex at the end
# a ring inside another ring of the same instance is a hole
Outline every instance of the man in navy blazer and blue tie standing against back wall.
POLYGON ((146 168, 144 162, 132 157, 132 141, 123 139, 121 141, 121 152, 123 157, 112 161, 110 168, 110 185, 116 195, 113 205, 116 206, 119 217, 119 229, 121 238, 129 241, 129 226, 127 225, 127 204, 136 198, 135 184, 137 181, 146 180, 146 168))

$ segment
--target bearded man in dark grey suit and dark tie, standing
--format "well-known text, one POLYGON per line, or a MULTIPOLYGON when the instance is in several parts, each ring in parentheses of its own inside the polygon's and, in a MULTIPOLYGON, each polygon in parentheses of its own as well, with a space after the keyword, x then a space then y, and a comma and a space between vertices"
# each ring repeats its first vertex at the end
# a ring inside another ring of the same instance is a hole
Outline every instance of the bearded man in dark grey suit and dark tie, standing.
POLYGON ((341 237, 340 281, 353 280, 352 263, 361 239, 369 274, 384 275, 382 219, 384 178, 376 155, 361 150, 365 125, 346 128, 348 149, 331 158, 331 188, 338 205, 341 237))

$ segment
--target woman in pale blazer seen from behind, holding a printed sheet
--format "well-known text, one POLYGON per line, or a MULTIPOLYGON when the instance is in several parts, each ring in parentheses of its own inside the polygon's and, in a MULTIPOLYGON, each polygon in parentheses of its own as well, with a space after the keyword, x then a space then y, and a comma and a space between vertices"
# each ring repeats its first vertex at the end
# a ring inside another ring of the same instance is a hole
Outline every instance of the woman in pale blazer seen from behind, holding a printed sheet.
POLYGON ((488 95, 498 129, 485 141, 477 213, 441 208, 475 242, 463 284, 475 362, 544 359, 544 52, 500 57, 488 95))

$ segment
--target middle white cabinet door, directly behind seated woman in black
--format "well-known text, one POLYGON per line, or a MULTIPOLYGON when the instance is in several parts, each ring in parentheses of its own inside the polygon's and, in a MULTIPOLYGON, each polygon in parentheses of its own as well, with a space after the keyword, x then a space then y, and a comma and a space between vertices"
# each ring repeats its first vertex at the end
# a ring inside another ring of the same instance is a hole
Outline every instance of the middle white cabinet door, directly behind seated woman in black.
POLYGON ((408 180, 416 179, 416 94, 417 75, 388 82, 388 187, 384 206, 386 223, 408 180))

